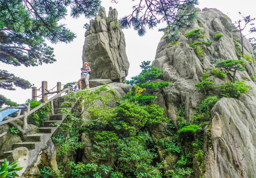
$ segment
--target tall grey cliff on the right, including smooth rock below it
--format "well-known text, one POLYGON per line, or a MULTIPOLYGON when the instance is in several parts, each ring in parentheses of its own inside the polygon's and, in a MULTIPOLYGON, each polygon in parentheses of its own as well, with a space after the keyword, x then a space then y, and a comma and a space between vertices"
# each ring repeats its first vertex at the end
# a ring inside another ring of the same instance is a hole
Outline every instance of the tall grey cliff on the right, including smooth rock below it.
MULTIPOLYGON (((196 107, 205 98, 205 94, 195 87, 202 81, 204 73, 219 61, 226 59, 241 59, 245 61, 246 71, 237 71, 236 80, 253 87, 239 99, 221 98, 211 109, 212 120, 208 123, 210 137, 205 139, 204 152, 205 173, 204 178, 254 178, 256 177, 256 85, 250 76, 256 74, 253 50, 247 39, 243 39, 244 54, 250 56, 252 61, 237 55, 237 46, 241 46, 239 32, 233 33, 227 23, 231 20, 217 9, 203 9, 198 12, 198 19, 191 29, 179 30, 176 43, 162 38, 158 44, 154 65, 162 69, 163 80, 172 84, 163 89, 160 94, 165 98, 165 107, 170 119, 176 122, 178 106, 185 107, 187 119, 195 113, 196 107), (191 42, 185 34, 193 29, 201 29, 205 36, 204 41, 212 41, 218 33, 223 36, 211 45, 203 45, 204 54, 199 56, 189 46, 191 42), (206 143, 207 142, 207 143, 206 143)), ((232 80, 231 76, 221 81, 210 76, 211 82, 219 86, 222 82, 232 80)), ((215 91, 211 91, 214 95, 215 91)), ((216 94, 215 94, 216 95, 216 94)), ((191 120, 191 119, 190 119, 191 120)), ((205 131, 206 133, 206 131, 205 131)), ((206 134, 205 134, 206 135, 206 134)), ((194 165, 195 175, 200 175, 194 165)))

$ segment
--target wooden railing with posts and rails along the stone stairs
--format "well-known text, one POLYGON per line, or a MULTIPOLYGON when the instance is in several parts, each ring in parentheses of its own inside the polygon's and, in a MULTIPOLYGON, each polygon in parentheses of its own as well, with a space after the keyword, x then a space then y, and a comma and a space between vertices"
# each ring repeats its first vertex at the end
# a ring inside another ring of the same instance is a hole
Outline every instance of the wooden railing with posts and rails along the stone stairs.
MULTIPOLYGON (((43 81, 45 82, 45 81, 43 81)), ((43 84, 42 82, 42 84, 43 84)), ((30 110, 30 103, 28 105, 26 104, 22 104, 22 106, 24 106, 24 108, 20 108, 20 107, 7 107, 7 108, 4 108, 0 111, 3 111, 3 110, 6 110, 6 109, 9 109, 9 108, 19 108, 19 111, 18 111, 18 115, 14 118, 11 118, 11 119, 8 119, 6 121, 2 121, 0 122, 0 126, 1 125, 4 125, 4 124, 7 124, 9 122, 12 122, 12 121, 16 121, 16 120, 19 120, 20 118, 23 118, 23 129, 27 129, 28 128, 28 122, 27 122, 27 118, 30 114, 36 112, 37 110, 39 110, 40 108, 42 108, 44 105, 46 105, 47 103, 51 102, 51 114, 54 114, 54 108, 53 108, 53 100, 56 99, 57 97, 59 97, 62 93, 64 92, 69 92, 69 88, 66 88, 66 89, 60 89, 60 90, 57 90, 57 91, 49 91, 47 89, 47 86, 46 88, 42 88, 42 96, 43 98, 47 98, 47 95, 48 94, 53 94, 53 93, 57 93, 55 96, 51 97, 50 99, 44 101, 42 104, 40 104, 39 106, 35 107, 34 109, 30 110), (44 90, 46 90, 47 92, 43 92, 44 90), (44 97, 45 96, 45 97, 44 97), (21 110, 20 109, 26 109, 26 111, 23 111, 22 115, 20 115, 20 112, 21 110)), ((44 100, 44 99, 43 99, 44 100)))

